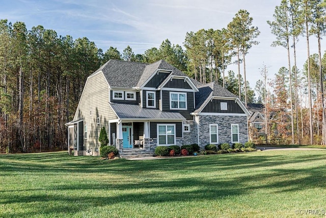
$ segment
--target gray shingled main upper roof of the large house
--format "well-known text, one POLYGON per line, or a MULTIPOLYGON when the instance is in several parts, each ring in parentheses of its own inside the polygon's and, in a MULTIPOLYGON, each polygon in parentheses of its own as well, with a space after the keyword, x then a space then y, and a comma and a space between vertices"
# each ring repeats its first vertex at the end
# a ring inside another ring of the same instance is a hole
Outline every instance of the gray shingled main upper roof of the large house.
POLYGON ((152 64, 109 60, 92 75, 102 71, 111 87, 132 88, 142 86, 157 69, 171 70, 171 74, 176 76, 186 76, 179 69, 164 60, 159 60, 152 64))

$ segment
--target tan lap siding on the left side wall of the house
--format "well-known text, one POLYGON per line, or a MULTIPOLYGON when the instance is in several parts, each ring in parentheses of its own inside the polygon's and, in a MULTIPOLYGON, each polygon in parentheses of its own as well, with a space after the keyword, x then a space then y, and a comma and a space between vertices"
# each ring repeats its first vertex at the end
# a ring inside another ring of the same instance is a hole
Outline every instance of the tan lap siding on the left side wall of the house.
POLYGON ((74 117, 74 120, 84 120, 84 128, 87 125, 87 138, 83 132, 84 151, 99 149, 98 137, 101 128, 104 126, 108 134, 108 120, 117 118, 109 106, 108 94, 108 84, 101 72, 88 78, 74 117), (99 124, 97 117, 100 118, 99 124))

